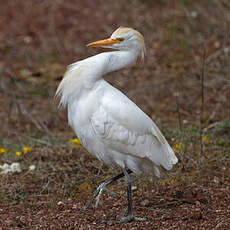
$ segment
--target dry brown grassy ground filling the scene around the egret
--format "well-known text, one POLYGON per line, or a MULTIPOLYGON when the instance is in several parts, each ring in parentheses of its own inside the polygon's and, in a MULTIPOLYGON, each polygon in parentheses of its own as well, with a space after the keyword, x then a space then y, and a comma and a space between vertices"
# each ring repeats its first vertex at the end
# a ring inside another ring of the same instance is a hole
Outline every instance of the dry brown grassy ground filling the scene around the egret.
POLYGON ((166 172, 160 180, 135 177, 136 212, 154 219, 139 228, 227 229, 228 0, 0 3, 0 147, 7 150, 0 155, 0 164, 17 161, 23 169, 0 176, 0 228, 102 229, 97 218, 107 212, 112 218, 124 209, 125 194, 118 183, 111 187, 116 196, 106 196, 95 216, 80 211, 91 190, 117 170, 69 142, 74 133, 53 96, 67 64, 101 51, 85 44, 128 25, 144 34, 148 59, 144 66, 113 73, 107 79, 156 121, 172 146, 178 144, 180 159, 170 177, 166 172), (202 154, 200 135, 205 136, 202 154), (31 151, 16 157, 14 152, 23 146, 31 151), (36 170, 29 172, 32 164, 36 170), (143 206, 146 199, 149 204, 143 206), (59 201, 63 204, 58 205, 59 201), (178 215, 174 217, 173 212, 178 215))

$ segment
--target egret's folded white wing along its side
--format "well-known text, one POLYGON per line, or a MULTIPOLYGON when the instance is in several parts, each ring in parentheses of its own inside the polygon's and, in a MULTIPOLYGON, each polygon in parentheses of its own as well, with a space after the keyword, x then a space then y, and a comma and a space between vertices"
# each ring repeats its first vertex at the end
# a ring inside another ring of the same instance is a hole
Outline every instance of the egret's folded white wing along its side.
POLYGON ((129 98, 107 85, 91 122, 101 141, 111 150, 148 158, 171 169, 177 158, 154 122, 129 98))

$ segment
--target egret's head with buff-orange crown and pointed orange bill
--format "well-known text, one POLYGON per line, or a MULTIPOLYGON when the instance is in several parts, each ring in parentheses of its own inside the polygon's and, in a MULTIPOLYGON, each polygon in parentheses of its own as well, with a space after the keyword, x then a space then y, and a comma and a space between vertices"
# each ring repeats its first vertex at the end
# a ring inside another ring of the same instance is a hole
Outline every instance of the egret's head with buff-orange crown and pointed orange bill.
POLYGON ((119 27, 110 38, 89 43, 87 46, 136 51, 141 59, 146 54, 144 37, 137 30, 128 27, 119 27))

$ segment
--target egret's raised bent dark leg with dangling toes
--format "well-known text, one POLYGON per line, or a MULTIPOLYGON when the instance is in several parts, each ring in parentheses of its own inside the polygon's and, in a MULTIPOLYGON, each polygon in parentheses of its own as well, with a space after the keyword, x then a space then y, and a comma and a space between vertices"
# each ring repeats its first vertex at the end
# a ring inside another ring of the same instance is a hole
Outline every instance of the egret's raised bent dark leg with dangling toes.
MULTIPOLYGON (((130 169, 127 170, 127 173, 130 174, 132 173, 132 171, 130 169)), ((105 180, 104 182, 102 182, 98 187, 97 189, 94 191, 92 197, 90 198, 90 200, 87 202, 87 204, 82 208, 82 210, 86 210, 89 205, 92 203, 92 201, 94 200, 94 198, 96 197, 96 203, 94 205, 94 210, 97 208, 98 204, 99 204, 99 201, 100 201, 100 197, 103 193, 103 190, 106 189, 105 187, 108 185, 108 184, 111 184, 112 182, 122 178, 124 176, 124 172, 123 173, 120 173, 118 174, 117 176, 115 177, 112 177, 108 180, 105 180)))

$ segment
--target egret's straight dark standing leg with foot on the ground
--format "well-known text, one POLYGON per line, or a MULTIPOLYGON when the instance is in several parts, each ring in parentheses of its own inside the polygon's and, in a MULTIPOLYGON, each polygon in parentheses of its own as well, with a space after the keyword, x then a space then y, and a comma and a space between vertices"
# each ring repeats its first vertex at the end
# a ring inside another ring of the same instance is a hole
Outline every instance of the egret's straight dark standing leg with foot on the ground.
POLYGON ((120 223, 128 223, 131 221, 144 221, 144 220, 146 220, 146 218, 138 218, 138 217, 133 216, 131 177, 125 168, 123 168, 123 173, 125 175, 126 185, 127 185, 128 215, 124 216, 124 217, 120 217, 120 220, 106 221, 107 224, 116 224, 116 223, 120 224, 120 223))

